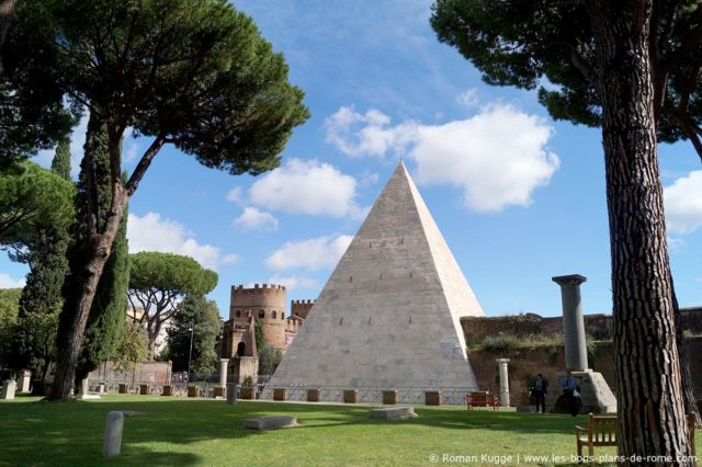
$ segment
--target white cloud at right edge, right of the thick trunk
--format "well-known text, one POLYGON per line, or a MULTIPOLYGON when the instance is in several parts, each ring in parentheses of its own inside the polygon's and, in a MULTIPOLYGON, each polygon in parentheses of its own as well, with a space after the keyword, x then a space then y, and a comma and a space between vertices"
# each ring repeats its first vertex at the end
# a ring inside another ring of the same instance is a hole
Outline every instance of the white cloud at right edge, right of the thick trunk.
POLYGON ((664 189, 668 231, 690 234, 702 227, 702 170, 693 170, 664 189))

